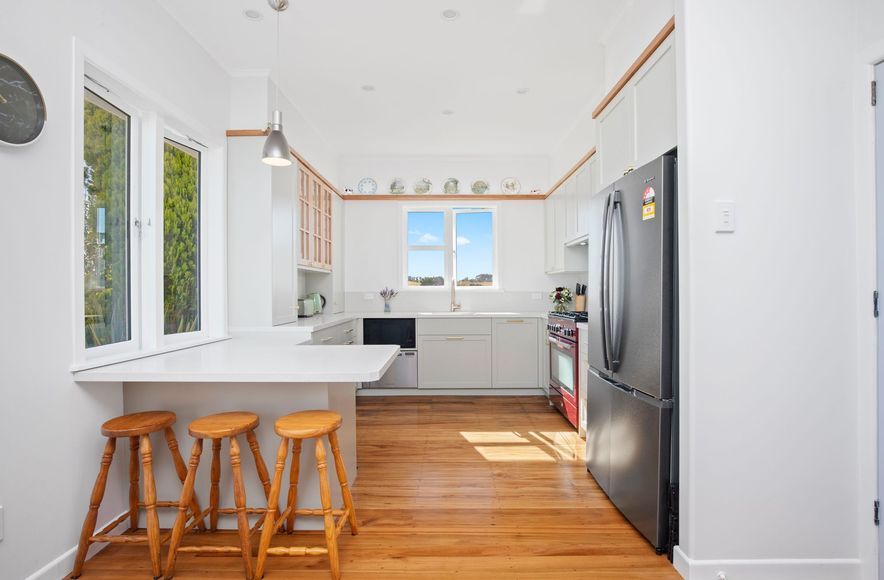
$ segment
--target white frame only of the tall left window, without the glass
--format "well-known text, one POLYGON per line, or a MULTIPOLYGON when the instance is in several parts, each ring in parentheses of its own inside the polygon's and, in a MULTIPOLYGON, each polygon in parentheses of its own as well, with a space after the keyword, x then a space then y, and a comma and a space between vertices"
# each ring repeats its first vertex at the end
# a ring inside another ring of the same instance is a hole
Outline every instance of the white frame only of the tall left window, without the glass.
POLYGON ((174 103, 151 95, 150 87, 140 86, 121 73, 112 75, 107 61, 98 52, 83 49, 75 42, 72 96, 74 101, 73 157, 71 184, 74 227, 71 247, 74 288, 74 360, 71 371, 84 370, 207 344, 229 338, 227 334, 227 295, 225 230, 226 193, 224 188, 223 140, 212 140, 182 118, 174 103), (97 58, 93 61, 92 58, 97 58), (104 63, 99 64, 99 63, 104 63), (118 79, 128 79, 126 84, 118 79), (130 340, 86 348, 85 289, 83 260, 83 109, 89 88, 130 116, 130 340), (200 330, 165 335, 163 315, 163 144, 165 139, 200 151, 200 330), (208 143, 209 145, 204 145, 208 143), (136 221, 139 226, 136 226, 136 221), (217 246, 214 249, 212 246, 217 246), (209 288, 215 288, 210 294, 209 288))

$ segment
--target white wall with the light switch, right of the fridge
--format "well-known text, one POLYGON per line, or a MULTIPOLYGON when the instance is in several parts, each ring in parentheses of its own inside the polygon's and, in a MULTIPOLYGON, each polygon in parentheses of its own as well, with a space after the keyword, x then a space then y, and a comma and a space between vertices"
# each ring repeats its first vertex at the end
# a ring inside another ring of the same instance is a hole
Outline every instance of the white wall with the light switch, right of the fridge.
POLYGON ((868 107, 855 8, 678 3, 677 563, 691 578, 863 576, 874 496, 859 493, 856 363, 871 286, 852 256, 872 212, 854 187, 856 91, 868 107), (736 202, 735 233, 715 233, 716 200, 736 202))

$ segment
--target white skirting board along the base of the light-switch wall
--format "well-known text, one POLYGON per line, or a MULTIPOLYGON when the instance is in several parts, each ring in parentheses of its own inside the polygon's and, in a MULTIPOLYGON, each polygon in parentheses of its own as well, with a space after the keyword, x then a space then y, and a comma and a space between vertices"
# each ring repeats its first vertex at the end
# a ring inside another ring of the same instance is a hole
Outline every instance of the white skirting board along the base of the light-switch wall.
POLYGON ((686 580, 859 580, 858 558, 692 560, 675 547, 673 564, 686 580))

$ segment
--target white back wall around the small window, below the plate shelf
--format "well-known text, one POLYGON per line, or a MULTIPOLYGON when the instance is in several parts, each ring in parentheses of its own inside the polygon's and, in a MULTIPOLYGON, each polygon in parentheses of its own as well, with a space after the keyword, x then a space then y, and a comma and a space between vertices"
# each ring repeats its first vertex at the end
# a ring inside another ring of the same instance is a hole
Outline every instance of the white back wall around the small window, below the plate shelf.
MULTIPOLYGON (((347 201, 344 246, 347 309, 377 310, 383 301, 377 292, 385 287, 402 290, 393 307, 403 311, 447 310, 448 291, 402 288, 403 207, 462 207, 463 202, 409 203, 397 201, 347 201), (363 294, 371 294, 366 300, 363 294)), ((544 214, 542 201, 489 202, 497 207, 498 271, 502 291, 458 289, 465 310, 550 309, 547 295, 558 284, 586 283, 586 274, 544 274, 544 214), (532 297, 540 294, 539 298, 532 297)))

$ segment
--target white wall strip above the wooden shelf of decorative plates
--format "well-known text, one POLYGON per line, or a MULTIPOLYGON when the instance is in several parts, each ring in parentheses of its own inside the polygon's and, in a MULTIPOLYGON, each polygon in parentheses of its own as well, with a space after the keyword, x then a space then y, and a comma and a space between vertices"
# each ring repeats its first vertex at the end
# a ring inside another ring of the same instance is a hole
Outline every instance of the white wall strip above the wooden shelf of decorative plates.
POLYGON ((378 182, 378 193, 389 193, 390 182, 405 180, 406 193, 414 193, 414 183, 426 177, 433 182, 432 193, 442 193, 449 177, 460 180, 460 192, 470 193, 470 184, 485 179, 491 186, 488 193, 501 193, 500 182, 515 177, 522 184, 521 193, 533 189, 546 191, 549 181, 549 159, 545 155, 513 157, 483 156, 417 156, 417 157, 342 157, 339 161, 341 186, 356 190, 363 177, 378 182))

